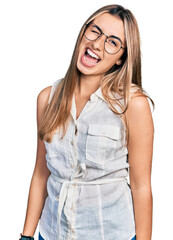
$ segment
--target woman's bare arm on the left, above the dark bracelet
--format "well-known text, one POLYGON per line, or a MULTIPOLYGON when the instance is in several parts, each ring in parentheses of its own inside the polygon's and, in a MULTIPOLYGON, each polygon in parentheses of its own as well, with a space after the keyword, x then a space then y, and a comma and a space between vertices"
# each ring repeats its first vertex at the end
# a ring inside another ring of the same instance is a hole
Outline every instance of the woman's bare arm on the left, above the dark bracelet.
MULTIPOLYGON (((42 90, 37 98, 37 128, 48 104, 50 88, 42 90)), ((45 199, 47 197, 47 179, 50 172, 46 166, 46 149, 44 142, 37 134, 37 154, 34 172, 31 179, 23 235, 34 236, 38 221, 40 219, 45 199)))

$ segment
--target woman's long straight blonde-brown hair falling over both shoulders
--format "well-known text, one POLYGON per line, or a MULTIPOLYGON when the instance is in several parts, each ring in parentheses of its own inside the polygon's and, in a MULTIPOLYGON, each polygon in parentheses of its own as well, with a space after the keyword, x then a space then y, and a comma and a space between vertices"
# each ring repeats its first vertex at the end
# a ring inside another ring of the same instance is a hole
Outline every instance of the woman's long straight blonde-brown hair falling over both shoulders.
MULTIPOLYGON (((79 32, 66 75, 56 87, 54 95, 43 115, 38 132, 41 140, 51 142, 53 132, 56 129, 59 129, 59 131, 60 129, 63 130, 62 137, 64 137, 66 133, 68 121, 70 120, 74 89, 76 83, 80 81, 80 72, 77 69, 79 44, 82 40, 86 25, 102 13, 109 13, 119 17, 123 21, 126 40, 126 49, 121 57, 121 65, 117 66, 115 64, 101 79, 103 97, 107 101, 110 109, 114 113, 122 116, 128 108, 132 88, 137 88, 139 94, 147 96, 142 89, 141 83, 140 35, 137 21, 130 10, 120 5, 104 6, 94 12, 85 21, 79 32), (116 96, 119 96, 119 98, 116 96), (121 109, 121 111, 117 109, 121 109)), ((151 102, 153 103, 152 100, 151 102)))

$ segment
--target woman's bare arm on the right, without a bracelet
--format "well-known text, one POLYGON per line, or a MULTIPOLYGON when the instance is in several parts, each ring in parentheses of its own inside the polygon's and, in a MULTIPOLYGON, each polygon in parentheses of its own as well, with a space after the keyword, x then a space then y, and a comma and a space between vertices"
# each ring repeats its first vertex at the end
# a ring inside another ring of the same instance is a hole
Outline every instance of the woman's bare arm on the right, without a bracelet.
POLYGON ((151 240, 154 126, 147 98, 133 97, 126 116, 129 133, 129 177, 134 202, 136 239, 151 240))

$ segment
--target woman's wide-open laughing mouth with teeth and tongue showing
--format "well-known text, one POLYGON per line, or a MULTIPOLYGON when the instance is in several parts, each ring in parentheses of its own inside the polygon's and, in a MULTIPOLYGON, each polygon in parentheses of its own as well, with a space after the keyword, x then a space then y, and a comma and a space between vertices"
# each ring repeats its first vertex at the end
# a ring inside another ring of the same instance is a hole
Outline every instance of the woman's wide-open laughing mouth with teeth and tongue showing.
POLYGON ((83 56, 82 56, 82 62, 84 65, 93 67, 95 66, 101 59, 99 56, 97 56, 93 51, 91 51, 89 48, 86 48, 83 56))

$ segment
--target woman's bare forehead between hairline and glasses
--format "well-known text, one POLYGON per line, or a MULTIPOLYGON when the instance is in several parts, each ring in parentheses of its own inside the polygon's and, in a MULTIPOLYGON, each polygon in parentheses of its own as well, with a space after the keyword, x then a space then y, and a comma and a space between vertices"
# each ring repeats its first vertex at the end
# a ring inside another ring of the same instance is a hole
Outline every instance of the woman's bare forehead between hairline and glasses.
POLYGON ((119 17, 109 13, 102 13, 96 17, 93 22, 98 25, 106 35, 117 36, 125 42, 124 24, 119 17))

